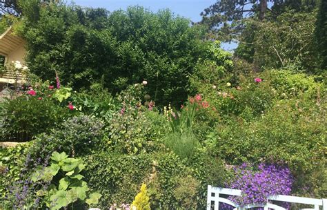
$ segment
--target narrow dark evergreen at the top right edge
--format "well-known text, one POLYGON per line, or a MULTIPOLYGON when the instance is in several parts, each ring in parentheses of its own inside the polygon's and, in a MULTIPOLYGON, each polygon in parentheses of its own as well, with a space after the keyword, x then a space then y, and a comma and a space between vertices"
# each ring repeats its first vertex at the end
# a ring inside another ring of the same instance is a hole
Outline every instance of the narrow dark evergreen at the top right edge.
POLYGON ((321 0, 315 35, 317 37, 317 48, 319 53, 320 67, 327 69, 327 0, 321 0))

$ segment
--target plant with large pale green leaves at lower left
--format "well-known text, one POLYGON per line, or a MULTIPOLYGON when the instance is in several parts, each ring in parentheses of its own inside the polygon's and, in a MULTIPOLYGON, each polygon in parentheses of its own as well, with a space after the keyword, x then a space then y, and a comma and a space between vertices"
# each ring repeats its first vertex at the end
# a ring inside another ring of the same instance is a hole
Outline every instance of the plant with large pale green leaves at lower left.
MULTIPOLYGON (((83 208, 86 204, 98 203, 101 194, 90 193, 88 183, 80 174, 85 168, 82 160, 68 158, 65 152, 57 151, 52 153, 50 160, 50 166, 37 166, 30 178, 35 184, 40 180, 48 182, 47 186, 41 186, 36 192, 41 208, 66 209, 68 206, 83 208)), ((38 189, 37 186, 35 189, 38 189)))

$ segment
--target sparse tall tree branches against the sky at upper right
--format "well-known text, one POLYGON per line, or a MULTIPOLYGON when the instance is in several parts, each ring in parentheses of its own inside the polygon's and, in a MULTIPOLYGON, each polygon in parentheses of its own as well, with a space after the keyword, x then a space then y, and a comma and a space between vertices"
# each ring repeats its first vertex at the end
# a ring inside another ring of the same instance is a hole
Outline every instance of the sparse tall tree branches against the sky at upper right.
POLYGON ((312 10, 317 0, 217 0, 201 12, 201 23, 219 39, 230 41, 244 30, 244 19, 276 19, 286 8, 297 12, 312 10), (269 14, 269 15, 268 15, 269 14))

